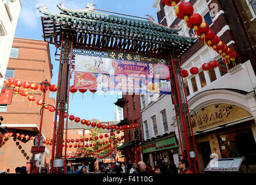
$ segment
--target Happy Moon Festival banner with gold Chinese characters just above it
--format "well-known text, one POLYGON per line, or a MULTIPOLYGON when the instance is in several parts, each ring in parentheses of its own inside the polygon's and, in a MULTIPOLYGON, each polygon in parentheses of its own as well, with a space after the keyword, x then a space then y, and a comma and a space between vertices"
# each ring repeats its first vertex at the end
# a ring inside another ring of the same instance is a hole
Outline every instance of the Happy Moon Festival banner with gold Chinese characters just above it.
POLYGON ((148 64, 139 60, 139 55, 118 53, 113 53, 113 58, 75 56, 74 87, 103 91, 171 94, 168 65, 148 64), (119 55, 118 58, 126 60, 114 59, 114 55, 119 55))

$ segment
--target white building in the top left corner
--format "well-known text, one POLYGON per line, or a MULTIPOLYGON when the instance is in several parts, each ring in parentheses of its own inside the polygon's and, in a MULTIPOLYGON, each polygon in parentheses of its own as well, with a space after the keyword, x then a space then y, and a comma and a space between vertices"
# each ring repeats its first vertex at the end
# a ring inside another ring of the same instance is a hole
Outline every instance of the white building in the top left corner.
POLYGON ((21 6, 20 0, 0 1, 0 86, 2 86, 4 79, 8 79, 9 76, 6 74, 6 68, 21 6))

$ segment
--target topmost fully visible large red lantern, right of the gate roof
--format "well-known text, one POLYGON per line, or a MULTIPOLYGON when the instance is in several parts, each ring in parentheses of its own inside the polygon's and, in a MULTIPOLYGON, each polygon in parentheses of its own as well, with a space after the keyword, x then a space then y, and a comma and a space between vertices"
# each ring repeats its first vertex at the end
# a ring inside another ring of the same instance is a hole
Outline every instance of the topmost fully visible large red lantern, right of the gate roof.
POLYGON ((193 5, 189 2, 182 2, 175 9, 176 16, 185 21, 188 21, 189 17, 192 16, 193 12, 193 5))

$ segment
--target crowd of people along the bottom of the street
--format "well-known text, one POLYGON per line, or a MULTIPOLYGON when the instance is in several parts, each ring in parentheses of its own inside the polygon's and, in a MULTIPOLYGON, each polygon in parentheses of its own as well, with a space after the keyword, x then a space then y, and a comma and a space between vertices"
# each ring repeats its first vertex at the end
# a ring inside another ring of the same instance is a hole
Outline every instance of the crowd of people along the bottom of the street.
MULTIPOLYGON (((188 165, 188 162, 186 160, 180 160, 179 161, 179 167, 176 168, 176 165, 173 161, 170 161, 170 163, 162 162, 162 164, 157 164, 152 168, 149 162, 145 164, 143 161, 134 162, 132 164, 131 161, 128 162, 128 164, 116 162, 114 164, 109 163, 107 166, 101 165, 100 166, 100 172, 101 173, 163 173, 163 174, 177 174, 177 173, 193 173, 190 169, 190 166, 188 165), (179 171, 179 172, 178 172, 179 171)), ((10 169, 7 169, 5 171, 0 171, 0 173, 9 173, 10 169)), ((26 166, 17 167, 15 169, 16 173, 22 173, 26 174, 28 173, 28 169, 26 166)), ((34 168, 31 173, 34 173, 34 168)), ((47 168, 42 168, 41 173, 48 173, 47 168)), ((74 169, 71 169, 71 166, 66 166, 66 173, 92 173, 88 171, 87 166, 82 166, 81 169, 78 169, 77 166, 74 166, 74 169)))

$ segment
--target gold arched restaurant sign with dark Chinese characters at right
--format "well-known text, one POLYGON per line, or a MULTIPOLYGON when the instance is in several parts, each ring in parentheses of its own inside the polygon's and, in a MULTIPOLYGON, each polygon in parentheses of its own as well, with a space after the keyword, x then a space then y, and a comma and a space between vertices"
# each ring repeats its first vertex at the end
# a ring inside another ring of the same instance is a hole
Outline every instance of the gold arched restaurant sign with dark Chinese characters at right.
POLYGON ((228 103, 208 105, 199 110, 191 119, 193 132, 212 128, 252 116, 247 110, 228 103), (218 106, 216 106, 218 105, 218 106))

